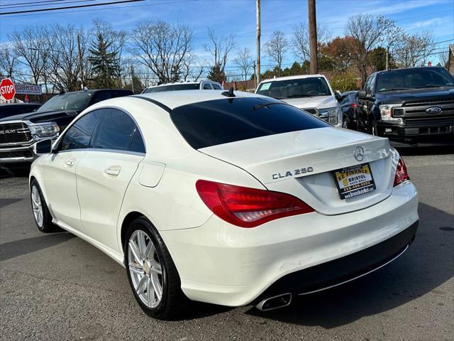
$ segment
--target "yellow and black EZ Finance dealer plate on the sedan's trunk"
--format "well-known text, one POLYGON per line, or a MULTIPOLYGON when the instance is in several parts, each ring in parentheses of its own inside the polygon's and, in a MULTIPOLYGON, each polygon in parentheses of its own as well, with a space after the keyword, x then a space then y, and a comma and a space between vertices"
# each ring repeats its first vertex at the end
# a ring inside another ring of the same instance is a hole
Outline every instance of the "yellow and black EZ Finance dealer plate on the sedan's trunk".
POLYGON ((350 166, 334 171, 341 199, 348 199, 375 190, 374 177, 369 163, 350 166))

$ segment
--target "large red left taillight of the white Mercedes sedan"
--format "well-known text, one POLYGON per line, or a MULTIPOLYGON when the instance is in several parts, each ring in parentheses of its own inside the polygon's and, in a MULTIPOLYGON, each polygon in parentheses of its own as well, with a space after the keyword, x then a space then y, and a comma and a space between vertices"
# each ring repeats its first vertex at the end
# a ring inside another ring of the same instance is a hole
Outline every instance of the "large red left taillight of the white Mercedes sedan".
POLYGON ((198 180, 196 189, 215 215, 239 227, 256 227, 270 220, 314 212, 297 197, 270 190, 207 180, 198 180))

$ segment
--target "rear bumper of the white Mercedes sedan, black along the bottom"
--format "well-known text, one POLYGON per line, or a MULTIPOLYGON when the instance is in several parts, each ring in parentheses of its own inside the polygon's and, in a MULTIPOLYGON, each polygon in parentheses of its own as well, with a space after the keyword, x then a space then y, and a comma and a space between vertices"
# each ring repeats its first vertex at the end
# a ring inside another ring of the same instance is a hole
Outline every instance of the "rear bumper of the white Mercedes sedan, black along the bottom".
POLYGON ((417 206, 416 188, 406 181, 382 202, 342 215, 312 212, 252 229, 212 216, 201 227, 161 234, 189 298, 239 306, 284 288, 294 293, 319 290, 380 267, 413 239, 417 206), (372 247, 373 252, 367 251, 372 247), (355 254, 365 259, 356 264, 345 258, 355 254), (319 269, 338 264, 343 264, 342 271, 314 278, 319 269), (288 282, 294 286, 286 287, 288 282))

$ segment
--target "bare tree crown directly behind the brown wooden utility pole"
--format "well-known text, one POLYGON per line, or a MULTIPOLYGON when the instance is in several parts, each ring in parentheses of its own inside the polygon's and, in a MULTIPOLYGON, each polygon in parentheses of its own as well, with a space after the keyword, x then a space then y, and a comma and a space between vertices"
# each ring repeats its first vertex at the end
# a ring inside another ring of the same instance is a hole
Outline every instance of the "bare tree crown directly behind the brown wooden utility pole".
MULTIPOLYGON (((317 24, 317 43, 321 45, 331 40, 332 32, 325 24, 317 24)), ((300 22, 293 28, 292 52, 300 63, 311 57, 309 49, 309 30, 306 23, 300 22)))

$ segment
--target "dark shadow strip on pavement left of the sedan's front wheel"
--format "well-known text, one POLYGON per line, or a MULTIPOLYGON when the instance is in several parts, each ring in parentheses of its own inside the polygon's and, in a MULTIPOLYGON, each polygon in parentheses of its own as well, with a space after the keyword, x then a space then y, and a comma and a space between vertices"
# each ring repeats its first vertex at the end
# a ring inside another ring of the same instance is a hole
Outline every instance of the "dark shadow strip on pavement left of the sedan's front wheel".
POLYGON ((0 261, 6 261, 6 259, 53 247, 74 237, 74 234, 70 234, 69 232, 60 232, 0 244, 0 261))

